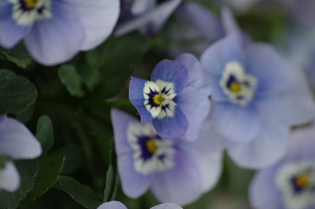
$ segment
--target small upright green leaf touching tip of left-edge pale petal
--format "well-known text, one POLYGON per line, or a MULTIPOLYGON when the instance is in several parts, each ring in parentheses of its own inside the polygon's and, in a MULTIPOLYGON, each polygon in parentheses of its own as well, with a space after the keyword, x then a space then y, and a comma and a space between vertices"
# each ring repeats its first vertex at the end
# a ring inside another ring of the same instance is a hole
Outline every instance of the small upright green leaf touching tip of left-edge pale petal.
POLYGON ((43 155, 52 147, 54 137, 52 136, 52 122, 46 115, 40 116, 36 126, 36 138, 43 147, 43 155))

